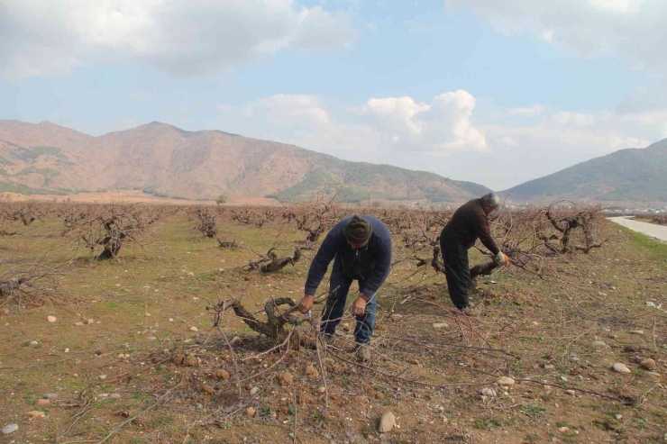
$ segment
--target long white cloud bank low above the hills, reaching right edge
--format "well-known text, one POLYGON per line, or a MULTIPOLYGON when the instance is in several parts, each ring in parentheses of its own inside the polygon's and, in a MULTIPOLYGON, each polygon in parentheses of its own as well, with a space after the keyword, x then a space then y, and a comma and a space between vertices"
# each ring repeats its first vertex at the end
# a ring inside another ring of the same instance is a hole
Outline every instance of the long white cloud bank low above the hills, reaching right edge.
POLYGON ((530 112, 507 109, 473 124, 475 106, 475 98, 460 90, 430 102, 375 97, 338 112, 312 95, 274 95, 243 109, 255 137, 343 159, 434 171, 498 190, 667 137, 667 109, 581 113, 536 105, 525 108, 530 112))

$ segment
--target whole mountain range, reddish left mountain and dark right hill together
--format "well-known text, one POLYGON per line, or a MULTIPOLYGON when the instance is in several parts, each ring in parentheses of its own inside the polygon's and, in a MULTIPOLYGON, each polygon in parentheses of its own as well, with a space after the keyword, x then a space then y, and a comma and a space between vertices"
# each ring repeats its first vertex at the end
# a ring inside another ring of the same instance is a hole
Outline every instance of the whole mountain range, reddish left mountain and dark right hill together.
MULTIPOLYGON (((158 197, 305 201, 337 195, 458 204, 490 190, 425 171, 351 162, 223 131, 151 122, 99 137, 50 122, 0 120, 0 192, 69 195, 115 189, 158 197)), ((514 203, 566 198, 667 203, 667 139, 619 150, 500 193, 514 203)))

